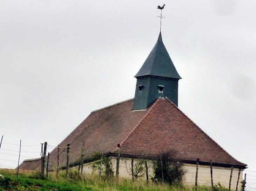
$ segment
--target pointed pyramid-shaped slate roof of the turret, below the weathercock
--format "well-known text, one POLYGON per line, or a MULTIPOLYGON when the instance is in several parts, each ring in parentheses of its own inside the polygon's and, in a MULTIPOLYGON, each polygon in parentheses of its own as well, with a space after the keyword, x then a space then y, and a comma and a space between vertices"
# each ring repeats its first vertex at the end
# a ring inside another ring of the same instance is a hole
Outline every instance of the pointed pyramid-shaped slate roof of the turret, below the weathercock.
POLYGON ((134 77, 145 75, 181 79, 162 41, 161 32, 146 61, 134 77))

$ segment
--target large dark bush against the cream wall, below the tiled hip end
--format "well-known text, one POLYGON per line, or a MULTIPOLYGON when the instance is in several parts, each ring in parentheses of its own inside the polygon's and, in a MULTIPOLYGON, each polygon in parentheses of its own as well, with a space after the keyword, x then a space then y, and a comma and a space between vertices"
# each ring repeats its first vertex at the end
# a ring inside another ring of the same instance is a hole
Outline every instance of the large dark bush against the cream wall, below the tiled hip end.
POLYGON ((182 184, 182 177, 186 173, 183 164, 176 160, 176 150, 161 153, 153 162, 153 181, 170 185, 182 184))

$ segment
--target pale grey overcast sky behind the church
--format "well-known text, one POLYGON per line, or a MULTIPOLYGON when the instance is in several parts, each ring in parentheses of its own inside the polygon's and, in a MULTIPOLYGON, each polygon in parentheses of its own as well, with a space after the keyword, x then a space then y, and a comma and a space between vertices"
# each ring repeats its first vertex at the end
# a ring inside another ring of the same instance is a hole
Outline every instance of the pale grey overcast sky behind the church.
POLYGON ((21 163, 40 157, 42 142, 57 146, 91 111, 134 97, 164 3, 179 108, 248 164, 247 190, 256 188, 254 0, 0 1, 0 168, 17 166, 20 139, 37 145, 22 147, 21 163))

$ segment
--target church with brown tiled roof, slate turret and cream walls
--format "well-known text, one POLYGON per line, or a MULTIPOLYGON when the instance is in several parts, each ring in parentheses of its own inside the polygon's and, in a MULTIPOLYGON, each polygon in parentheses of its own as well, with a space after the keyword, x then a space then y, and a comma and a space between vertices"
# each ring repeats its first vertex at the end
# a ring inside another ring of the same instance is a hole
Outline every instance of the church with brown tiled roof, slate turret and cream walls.
MULTIPOLYGON (((79 165, 84 143, 84 171, 91 172, 90 164, 95 152, 115 159, 130 159, 141 155, 149 159, 170 149, 177 151, 177 160, 184 163, 184 183, 195 184, 198 162, 198 184, 210 185, 210 164, 213 182, 228 187, 230 169, 233 170, 231 188, 240 187, 246 164, 236 160, 211 139, 185 113, 178 108, 178 74, 163 44, 160 32, 157 42, 146 61, 135 75, 135 96, 105 108, 92 111, 59 144, 59 167, 66 166, 70 144, 69 164, 79 165), (210 162, 211 161, 211 162, 210 162)), ((49 157, 49 169, 56 170, 58 148, 49 157)), ((113 160, 115 161, 115 160, 113 160)), ((25 160, 20 169, 40 170, 41 159, 25 160)), ((119 176, 130 177, 120 165, 119 176)))

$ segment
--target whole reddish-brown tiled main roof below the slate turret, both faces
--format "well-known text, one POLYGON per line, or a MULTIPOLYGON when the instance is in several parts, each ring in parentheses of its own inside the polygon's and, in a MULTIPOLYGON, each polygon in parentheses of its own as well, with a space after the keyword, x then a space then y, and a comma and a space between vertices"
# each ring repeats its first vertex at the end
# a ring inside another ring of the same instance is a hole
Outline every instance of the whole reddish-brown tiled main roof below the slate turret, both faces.
MULTIPOLYGON (((70 144, 69 163, 74 164, 80 160, 85 142, 85 159, 95 152, 115 154, 120 144, 121 155, 157 156, 175 149, 179 160, 195 162, 199 158, 201 162, 212 160, 220 166, 245 168, 246 164, 228 154, 170 100, 158 98, 143 111, 132 108, 130 99, 91 112, 59 144, 60 167, 66 165, 67 144, 70 144)), ((56 169, 57 150, 50 153, 49 169, 56 169)), ((23 161, 19 168, 40 170, 41 160, 23 161)))

